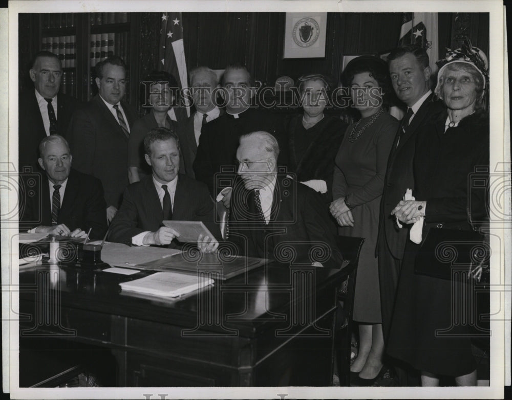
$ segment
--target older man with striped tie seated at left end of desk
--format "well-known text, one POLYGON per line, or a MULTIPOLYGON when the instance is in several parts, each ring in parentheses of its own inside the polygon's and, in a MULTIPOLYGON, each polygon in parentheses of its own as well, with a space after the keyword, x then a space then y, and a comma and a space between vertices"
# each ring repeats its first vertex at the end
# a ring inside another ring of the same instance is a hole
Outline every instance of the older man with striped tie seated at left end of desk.
POLYGON ((30 232, 101 239, 106 232, 105 200, 101 182, 71 169, 66 139, 51 135, 39 145, 39 165, 45 170, 37 193, 27 196, 20 226, 30 232), (39 224, 34 227, 35 224, 39 224))

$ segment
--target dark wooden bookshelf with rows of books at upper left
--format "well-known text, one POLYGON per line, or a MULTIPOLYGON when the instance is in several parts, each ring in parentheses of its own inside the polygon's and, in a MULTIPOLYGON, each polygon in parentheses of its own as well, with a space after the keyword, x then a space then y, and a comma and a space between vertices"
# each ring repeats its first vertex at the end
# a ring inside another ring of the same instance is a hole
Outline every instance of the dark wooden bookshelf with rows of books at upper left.
POLYGON ((95 65, 109 56, 126 63, 125 100, 136 104, 137 57, 140 25, 137 13, 45 13, 36 14, 39 27, 35 50, 48 50, 62 63, 61 93, 89 101, 98 93, 95 65), (135 77, 135 79, 131 79, 135 77))

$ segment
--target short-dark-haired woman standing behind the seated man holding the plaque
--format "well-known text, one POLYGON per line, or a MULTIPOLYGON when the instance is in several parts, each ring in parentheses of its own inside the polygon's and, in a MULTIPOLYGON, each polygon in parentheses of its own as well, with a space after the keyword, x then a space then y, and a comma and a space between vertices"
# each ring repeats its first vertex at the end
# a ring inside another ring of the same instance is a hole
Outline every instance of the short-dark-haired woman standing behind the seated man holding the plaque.
MULTIPOLYGON (((173 88, 178 87, 176 79, 163 71, 153 71, 141 84, 144 104, 148 113, 134 122, 128 139, 128 180, 138 182, 151 173, 151 167, 144 159, 143 141, 147 132, 153 128, 167 128, 177 132, 178 123, 167 114, 174 103, 173 88)), ((180 172, 184 171, 183 161, 180 160, 180 172)))

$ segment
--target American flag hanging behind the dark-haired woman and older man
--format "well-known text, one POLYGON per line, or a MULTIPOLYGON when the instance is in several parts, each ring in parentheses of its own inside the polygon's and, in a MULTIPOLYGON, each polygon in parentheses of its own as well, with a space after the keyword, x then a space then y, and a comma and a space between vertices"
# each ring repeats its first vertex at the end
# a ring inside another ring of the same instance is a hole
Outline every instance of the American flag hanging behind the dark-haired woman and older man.
MULTIPOLYGON (((181 12, 164 13, 161 19, 159 49, 160 70, 173 75, 181 90, 188 86, 181 12)), ((182 112, 182 109, 175 107, 174 111, 176 114, 179 114, 182 112)), ((186 107, 186 114, 187 117, 190 115, 190 109, 188 107, 186 107)), ((176 117, 178 121, 181 119, 180 115, 176 115, 176 117)))

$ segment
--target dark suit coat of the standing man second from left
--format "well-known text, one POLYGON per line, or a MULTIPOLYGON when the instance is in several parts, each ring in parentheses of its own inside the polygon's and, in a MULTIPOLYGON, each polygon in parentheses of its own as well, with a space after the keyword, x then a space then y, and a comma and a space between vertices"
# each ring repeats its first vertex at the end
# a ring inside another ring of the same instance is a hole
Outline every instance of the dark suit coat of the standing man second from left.
MULTIPOLYGON (((123 101, 121 106, 131 129, 137 118, 135 109, 123 101)), ((106 205, 118 208, 128 185, 128 138, 99 95, 73 114, 67 137, 73 167, 99 178, 106 205)))

